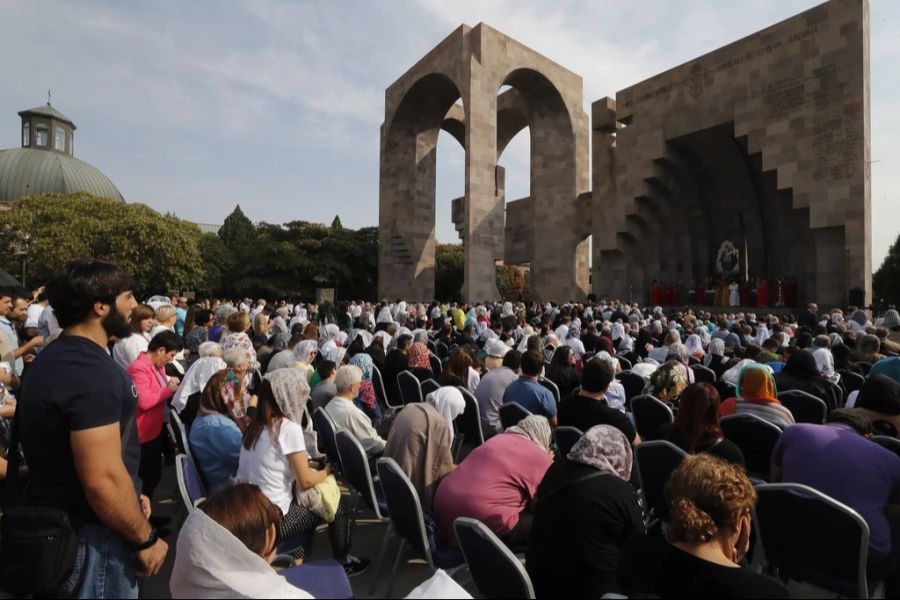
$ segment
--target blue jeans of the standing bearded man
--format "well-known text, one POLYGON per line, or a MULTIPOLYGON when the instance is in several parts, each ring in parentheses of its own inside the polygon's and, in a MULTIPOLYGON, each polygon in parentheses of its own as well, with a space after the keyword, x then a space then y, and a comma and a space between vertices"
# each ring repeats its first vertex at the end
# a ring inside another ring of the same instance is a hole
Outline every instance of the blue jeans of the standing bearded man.
POLYGON ((78 552, 61 598, 137 598, 137 556, 117 533, 99 523, 79 530, 78 552))

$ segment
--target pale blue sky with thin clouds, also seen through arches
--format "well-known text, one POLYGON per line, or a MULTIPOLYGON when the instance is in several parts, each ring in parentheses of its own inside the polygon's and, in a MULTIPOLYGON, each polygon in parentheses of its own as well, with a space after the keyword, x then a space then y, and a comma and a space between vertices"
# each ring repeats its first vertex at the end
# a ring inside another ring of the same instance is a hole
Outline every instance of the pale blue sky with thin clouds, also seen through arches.
MULTIPOLYGON (((75 155, 125 198, 221 224, 378 223, 384 90, 461 23, 485 22, 584 79, 584 106, 802 12, 815 0, 0 0, 0 148, 53 105, 75 155)), ((900 233, 900 2, 871 3, 872 244, 900 233)), ((462 148, 438 142, 437 238, 458 242, 462 148)), ((523 131, 501 157, 529 193, 523 131)))

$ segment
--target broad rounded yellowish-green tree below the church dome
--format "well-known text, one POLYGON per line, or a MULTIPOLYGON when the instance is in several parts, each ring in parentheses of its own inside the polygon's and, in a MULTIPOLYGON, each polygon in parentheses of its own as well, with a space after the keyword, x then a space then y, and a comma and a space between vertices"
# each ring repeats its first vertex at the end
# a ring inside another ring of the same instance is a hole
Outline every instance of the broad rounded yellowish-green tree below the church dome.
MULTIPOLYGON (((139 293, 190 289, 206 276, 200 228, 143 204, 86 193, 20 198, 0 213, 0 247, 31 237, 31 281, 46 281, 66 261, 84 256, 110 260, 134 277, 139 293)), ((18 258, 0 253, 0 265, 17 272, 18 258)))

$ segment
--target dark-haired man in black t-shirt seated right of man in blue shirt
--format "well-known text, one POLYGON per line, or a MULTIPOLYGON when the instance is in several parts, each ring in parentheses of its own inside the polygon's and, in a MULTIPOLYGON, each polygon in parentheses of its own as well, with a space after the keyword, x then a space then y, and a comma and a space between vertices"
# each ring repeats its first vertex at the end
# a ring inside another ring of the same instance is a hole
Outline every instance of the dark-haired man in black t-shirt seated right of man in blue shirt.
POLYGON ((605 360, 590 360, 581 373, 581 392, 559 405, 559 425, 576 427, 586 432, 594 425, 612 425, 625 434, 632 445, 641 441, 624 413, 610 408, 603 398, 613 380, 612 367, 605 360))

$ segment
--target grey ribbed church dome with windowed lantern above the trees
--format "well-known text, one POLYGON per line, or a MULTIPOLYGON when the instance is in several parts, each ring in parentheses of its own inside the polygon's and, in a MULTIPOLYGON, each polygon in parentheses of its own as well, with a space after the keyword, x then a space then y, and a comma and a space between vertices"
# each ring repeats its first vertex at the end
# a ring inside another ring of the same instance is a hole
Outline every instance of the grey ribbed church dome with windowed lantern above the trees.
POLYGON ((22 147, 0 150, 0 202, 87 192, 125 201, 109 177, 75 158, 75 124, 49 102, 19 113, 22 147))

